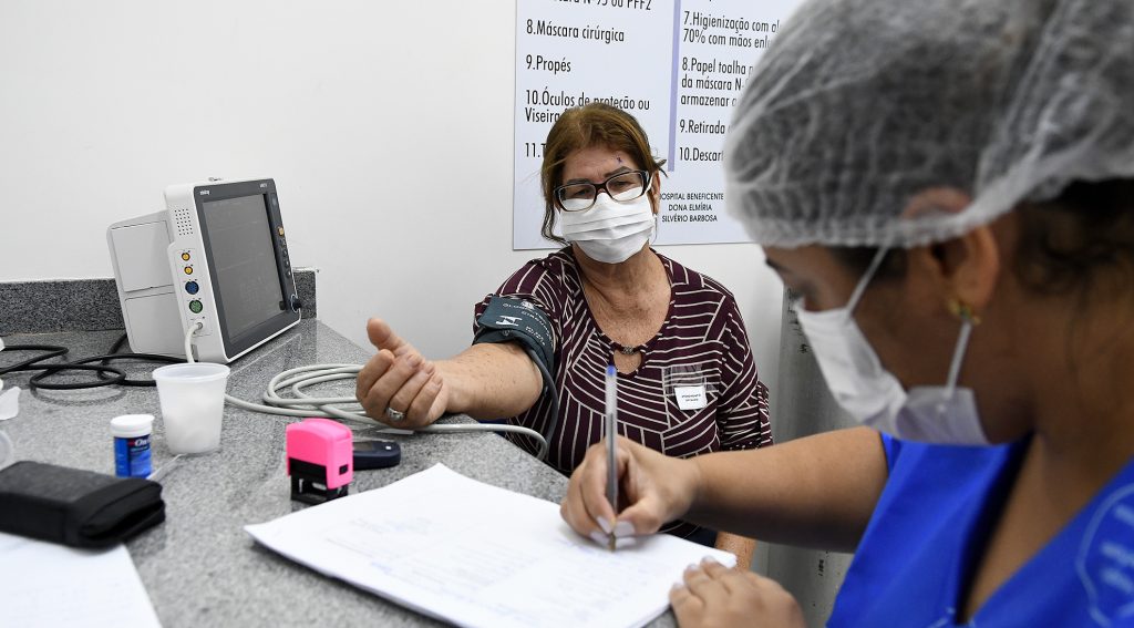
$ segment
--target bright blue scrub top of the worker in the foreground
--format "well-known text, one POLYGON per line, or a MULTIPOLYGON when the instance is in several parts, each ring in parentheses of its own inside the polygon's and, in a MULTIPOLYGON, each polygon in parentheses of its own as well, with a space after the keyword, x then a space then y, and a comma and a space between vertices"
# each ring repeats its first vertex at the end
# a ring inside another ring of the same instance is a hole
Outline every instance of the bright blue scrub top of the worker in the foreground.
MULTIPOLYGON (((1027 442, 945 447, 883 435, 883 444, 890 477, 828 625, 955 626, 1027 442)), ((1134 627, 1134 462, 966 626, 1134 627)))

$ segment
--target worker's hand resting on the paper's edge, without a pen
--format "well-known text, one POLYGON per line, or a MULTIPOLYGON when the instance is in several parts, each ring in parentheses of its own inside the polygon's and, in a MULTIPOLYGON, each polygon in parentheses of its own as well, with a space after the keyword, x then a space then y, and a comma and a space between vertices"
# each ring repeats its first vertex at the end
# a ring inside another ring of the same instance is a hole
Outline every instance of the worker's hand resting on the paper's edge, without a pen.
POLYGON ((685 570, 684 585, 669 592, 677 623, 806 628, 803 611, 776 580, 748 570, 729 569, 705 559, 685 570))

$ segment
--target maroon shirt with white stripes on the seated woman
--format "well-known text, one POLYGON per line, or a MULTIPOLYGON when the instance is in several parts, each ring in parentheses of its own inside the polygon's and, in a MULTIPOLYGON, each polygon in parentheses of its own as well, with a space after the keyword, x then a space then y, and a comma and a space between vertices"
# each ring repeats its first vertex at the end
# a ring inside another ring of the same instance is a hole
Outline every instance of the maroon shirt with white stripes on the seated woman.
MULTIPOLYGON (((733 294, 665 255, 658 257, 671 286, 669 312, 657 336, 642 347, 637 370, 618 373, 618 433, 680 458, 771 444, 768 388, 756 376, 733 294), (703 390, 704 407, 683 410, 675 388, 693 391, 695 398, 703 390)), ((477 317, 492 296, 476 305, 477 317)), ((602 439, 612 342, 591 315, 570 247, 532 260, 496 296, 527 299, 551 320, 559 425, 549 443, 548 464, 569 475, 586 449, 602 439)), ((550 413, 551 401, 544 394, 508 423, 544 433, 550 413)), ((506 436, 532 455, 539 451, 530 436, 506 436)), ((687 536, 693 529, 671 532, 687 536)))

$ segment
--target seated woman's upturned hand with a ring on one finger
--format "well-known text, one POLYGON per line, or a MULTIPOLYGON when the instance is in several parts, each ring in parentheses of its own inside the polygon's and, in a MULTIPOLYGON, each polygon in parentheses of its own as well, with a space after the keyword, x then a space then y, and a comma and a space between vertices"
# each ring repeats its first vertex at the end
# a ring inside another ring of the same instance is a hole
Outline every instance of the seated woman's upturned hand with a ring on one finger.
POLYGON ((448 399, 437 365, 393 333, 386 321, 366 321, 366 336, 378 347, 378 354, 358 373, 355 391, 366 414, 391 427, 423 427, 437 421, 448 399), (387 408, 405 418, 395 421, 387 408))

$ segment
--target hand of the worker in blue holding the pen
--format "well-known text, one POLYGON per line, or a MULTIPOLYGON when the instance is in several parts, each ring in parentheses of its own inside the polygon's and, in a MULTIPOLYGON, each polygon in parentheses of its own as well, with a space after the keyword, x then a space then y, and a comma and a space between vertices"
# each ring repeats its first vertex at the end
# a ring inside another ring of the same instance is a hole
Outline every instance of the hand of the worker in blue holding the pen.
POLYGON ((559 514, 575 532, 604 545, 611 531, 620 538, 653 534, 689 509, 700 482, 693 461, 670 458, 621 436, 616 460, 623 508, 617 517, 607 501, 606 440, 592 445, 572 474, 559 514))

